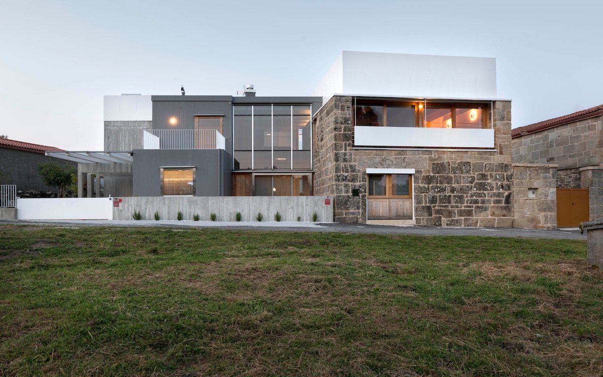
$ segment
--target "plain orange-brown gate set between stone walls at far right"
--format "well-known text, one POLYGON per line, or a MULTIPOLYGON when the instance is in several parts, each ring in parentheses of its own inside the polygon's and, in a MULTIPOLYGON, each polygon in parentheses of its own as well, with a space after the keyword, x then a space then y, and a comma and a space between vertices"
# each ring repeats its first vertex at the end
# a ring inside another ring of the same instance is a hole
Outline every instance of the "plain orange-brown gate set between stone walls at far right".
POLYGON ((557 227, 578 227, 589 221, 589 189, 557 189, 557 227))

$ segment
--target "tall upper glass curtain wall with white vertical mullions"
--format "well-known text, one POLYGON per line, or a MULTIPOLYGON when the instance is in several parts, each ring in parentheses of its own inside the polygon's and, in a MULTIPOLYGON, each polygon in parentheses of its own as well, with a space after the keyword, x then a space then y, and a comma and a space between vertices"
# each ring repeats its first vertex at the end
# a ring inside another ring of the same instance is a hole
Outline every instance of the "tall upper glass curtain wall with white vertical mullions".
POLYGON ((309 105, 233 106, 235 170, 310 170, 309 105))

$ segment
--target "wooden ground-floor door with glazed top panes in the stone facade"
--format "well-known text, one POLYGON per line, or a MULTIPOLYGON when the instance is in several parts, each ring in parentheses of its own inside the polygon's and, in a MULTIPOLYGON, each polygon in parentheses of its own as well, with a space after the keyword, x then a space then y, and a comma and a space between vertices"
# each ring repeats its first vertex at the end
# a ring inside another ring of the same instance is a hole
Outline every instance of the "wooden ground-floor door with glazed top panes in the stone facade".
POLYGON ((367 218, 412 219, 411 174, 369 174, 367 218))

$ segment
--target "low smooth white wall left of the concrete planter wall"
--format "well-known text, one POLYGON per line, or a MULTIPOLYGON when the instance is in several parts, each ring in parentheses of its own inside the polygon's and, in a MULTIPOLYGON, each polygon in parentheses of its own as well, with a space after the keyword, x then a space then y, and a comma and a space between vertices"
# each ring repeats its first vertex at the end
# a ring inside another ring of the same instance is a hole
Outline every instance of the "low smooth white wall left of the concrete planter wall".
POLYGON ((112 220, 110 198, 17 199, 17 220, 112 220))

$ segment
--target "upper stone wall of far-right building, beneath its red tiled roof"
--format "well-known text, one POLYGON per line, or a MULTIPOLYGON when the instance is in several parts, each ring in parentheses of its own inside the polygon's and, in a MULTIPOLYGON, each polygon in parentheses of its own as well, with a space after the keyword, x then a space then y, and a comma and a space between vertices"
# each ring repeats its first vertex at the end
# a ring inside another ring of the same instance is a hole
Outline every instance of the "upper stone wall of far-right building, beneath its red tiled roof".
POLYGON ((558 170, 599 165, 603 117, 579 120, 513 139, 514 164, 557 164, 558 170))

